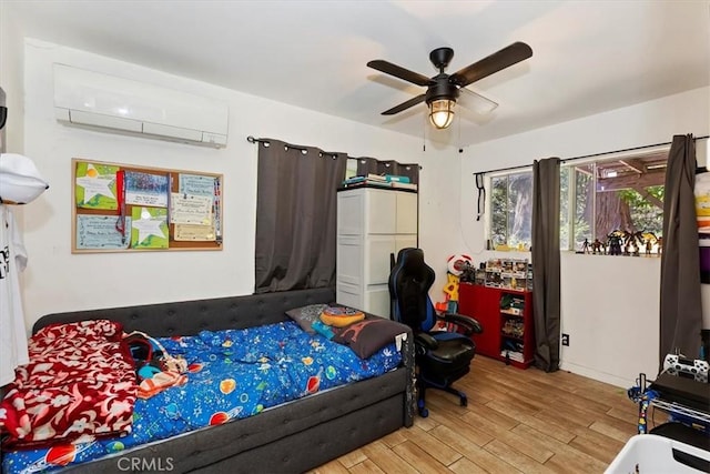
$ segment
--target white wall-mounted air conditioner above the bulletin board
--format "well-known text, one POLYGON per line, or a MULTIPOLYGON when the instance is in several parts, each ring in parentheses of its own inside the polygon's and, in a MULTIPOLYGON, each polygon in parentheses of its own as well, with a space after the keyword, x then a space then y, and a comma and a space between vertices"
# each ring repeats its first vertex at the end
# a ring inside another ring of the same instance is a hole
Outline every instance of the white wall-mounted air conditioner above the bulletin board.
POLYGON ((64 124, 214 148, 226 145, 223 102, 54 64, 54 113, 64 124))

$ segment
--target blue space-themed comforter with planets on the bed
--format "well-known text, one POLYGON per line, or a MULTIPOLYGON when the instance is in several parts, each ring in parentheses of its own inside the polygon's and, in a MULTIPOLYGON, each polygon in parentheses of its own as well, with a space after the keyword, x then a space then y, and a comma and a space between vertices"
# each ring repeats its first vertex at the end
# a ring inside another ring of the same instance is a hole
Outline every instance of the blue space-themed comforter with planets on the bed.
POLYGON ((171 355, 185 357, 187 383, 136 401, 130 434, 6 452, 3 473, 51 471, 256 415, 284 402, 381 375, 400 362, 394 344, 363 360, 349 347, 307 334, 291 321, 159 341, 171 355))

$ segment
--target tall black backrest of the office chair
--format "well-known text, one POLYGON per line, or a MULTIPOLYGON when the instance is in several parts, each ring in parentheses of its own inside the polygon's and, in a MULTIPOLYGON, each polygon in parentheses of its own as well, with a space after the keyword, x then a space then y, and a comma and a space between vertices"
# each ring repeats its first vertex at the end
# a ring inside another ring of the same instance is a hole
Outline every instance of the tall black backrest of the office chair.
POLYGON ((435 278, 434 270, 424 263, 422 249, 406 248, 397 253, 388 282, 392 317, 415 333, 428 332, 436 323, 428 293, 435 278))

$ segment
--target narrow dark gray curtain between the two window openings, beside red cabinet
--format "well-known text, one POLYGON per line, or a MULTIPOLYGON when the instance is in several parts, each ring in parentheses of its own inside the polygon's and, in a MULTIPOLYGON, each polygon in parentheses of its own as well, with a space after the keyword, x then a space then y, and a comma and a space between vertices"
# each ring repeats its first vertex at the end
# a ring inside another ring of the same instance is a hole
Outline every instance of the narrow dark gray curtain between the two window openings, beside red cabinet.
POLYGON ((559 159, 532 164, 535 365, 559 369, 559 159))

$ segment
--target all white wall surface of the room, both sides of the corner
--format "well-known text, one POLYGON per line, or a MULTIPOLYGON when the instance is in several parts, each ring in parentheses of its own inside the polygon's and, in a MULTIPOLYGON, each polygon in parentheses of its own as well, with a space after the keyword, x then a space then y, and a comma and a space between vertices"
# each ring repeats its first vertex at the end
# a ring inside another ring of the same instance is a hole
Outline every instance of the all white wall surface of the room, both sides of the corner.
MULTIPOLYGON (((703 105, 710 103, 706 88, 483 143, 463 154, 430 144, 423 152, 420 139, 61 46, 36 40, 24 46, 21 29, 16 27, 0 2, 0 84, 11 107, 8 151, 30 155, 51 184, 38 201, 17 210, 26 218, 24 239, 30 253, 23 282, 26 320, 30 325, 49 312, 252 293, 256 149, 246 142, 248 134, 345 151, 354 157, 420 163, 419 245, 437 272, 432 295, 439 300, 449 255, 469 253, 476 262, 488 256, 483 250, 484 221, 475 220, 474 172, 529 164, 534 159, 551 155, 570 158, 665 142, 674 133, 701 135, 710 130, 708 107, 703 105), (225 100, 231 109, 230 144, 225 150, 210 150, 67 129, 53 119, 52 62, 225 100), (26 114, 19 120, 22 109, 26 114), (243 118, 240 111, 250 113, 243 118), (224 250, 71 254, 74 157, 223 173, 224 250)), ((659 262, 565 254, 561 265, 562 331, 571 335, 570 347, 562 350, 562 366, 619 386, 632 383, 638 372, 653 374, 659 262)), ((706 325, 710 325, 708 302, 710 285, 703 285, 706 325)))

